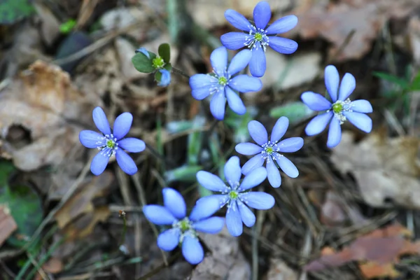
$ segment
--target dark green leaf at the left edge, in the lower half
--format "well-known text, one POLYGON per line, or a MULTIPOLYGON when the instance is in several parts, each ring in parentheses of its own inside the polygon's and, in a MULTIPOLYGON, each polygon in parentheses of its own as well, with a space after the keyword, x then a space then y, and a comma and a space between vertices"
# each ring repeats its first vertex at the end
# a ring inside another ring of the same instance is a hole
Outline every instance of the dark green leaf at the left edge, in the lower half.
POLYGON ((0 162, 0 204, 7 205, 18 225, 7 243, 22 248, 41 224, 43 209, 40 197, 29 186, 8 186, 8 176, 13 170, 10 162, 0 162))

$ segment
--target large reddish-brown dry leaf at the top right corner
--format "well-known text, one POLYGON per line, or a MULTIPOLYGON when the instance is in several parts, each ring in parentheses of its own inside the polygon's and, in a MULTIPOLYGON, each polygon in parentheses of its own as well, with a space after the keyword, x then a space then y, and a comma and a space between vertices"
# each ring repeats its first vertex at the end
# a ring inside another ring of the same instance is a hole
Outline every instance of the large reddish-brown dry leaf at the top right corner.
POLYGON ((386 20, 403 18, 419 6, 418 0, 348 0, 337 4, 311 1, 311 5, 295 10, 299 24, 293 34, 297 32, 307 39, 321 36, 332 43, 330 52, 335 53, 350 31, 355 30, 351 41, 335 59, 359 59, 369 52, 386 20))

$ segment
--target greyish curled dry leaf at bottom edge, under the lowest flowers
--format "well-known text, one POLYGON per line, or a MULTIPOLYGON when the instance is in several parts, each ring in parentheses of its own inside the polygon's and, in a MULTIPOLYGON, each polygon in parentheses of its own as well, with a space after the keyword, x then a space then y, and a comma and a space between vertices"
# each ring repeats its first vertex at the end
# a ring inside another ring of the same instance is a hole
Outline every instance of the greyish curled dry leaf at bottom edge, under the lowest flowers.
POLYGON ((194 269, 189 280, 249 279, 251 269, 239 250, 238 239, 226 228, 218 235, 200 235, 211 253, 194 269))

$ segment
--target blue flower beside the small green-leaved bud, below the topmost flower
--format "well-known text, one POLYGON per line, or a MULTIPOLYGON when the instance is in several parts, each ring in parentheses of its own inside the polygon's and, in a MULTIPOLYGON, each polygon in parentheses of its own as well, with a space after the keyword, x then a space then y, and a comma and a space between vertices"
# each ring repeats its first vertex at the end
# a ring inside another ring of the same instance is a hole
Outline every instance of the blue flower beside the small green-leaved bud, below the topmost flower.
POLYGON ((237 92, 256 92, 261 89, 262 83, 259 78, 248 75, 237 75, 232 78, 248 65, 249 59, 251 51, 242 50, 233 57, 227 67, 228 50, 225 47, 216 48, 210 55, 214 73, 196 74, 190 78, 191 93, 195 99, 202 100, 214 94, 210 102, 210 111, 214 118, 223 120, 225 117, 226 99, 232 111, 243 115, 246 108, 237 92))

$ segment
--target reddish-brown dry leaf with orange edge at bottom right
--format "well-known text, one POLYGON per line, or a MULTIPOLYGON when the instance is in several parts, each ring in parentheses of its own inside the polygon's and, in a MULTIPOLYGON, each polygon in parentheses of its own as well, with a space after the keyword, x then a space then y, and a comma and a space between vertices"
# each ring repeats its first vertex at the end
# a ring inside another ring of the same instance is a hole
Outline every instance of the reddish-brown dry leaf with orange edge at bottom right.
POLYGON ((358 237, 337 253, 332 248, 323 248, 321 258, 309 262, 304 269, 314 272, 358 261, 367 279, 379 276, 396 277, 398 272, 393 265, 399 262, 400 256, 420 253, 420 242, 405 238, 411 236, 412 232, 402 225, 388 225, 358 237))

